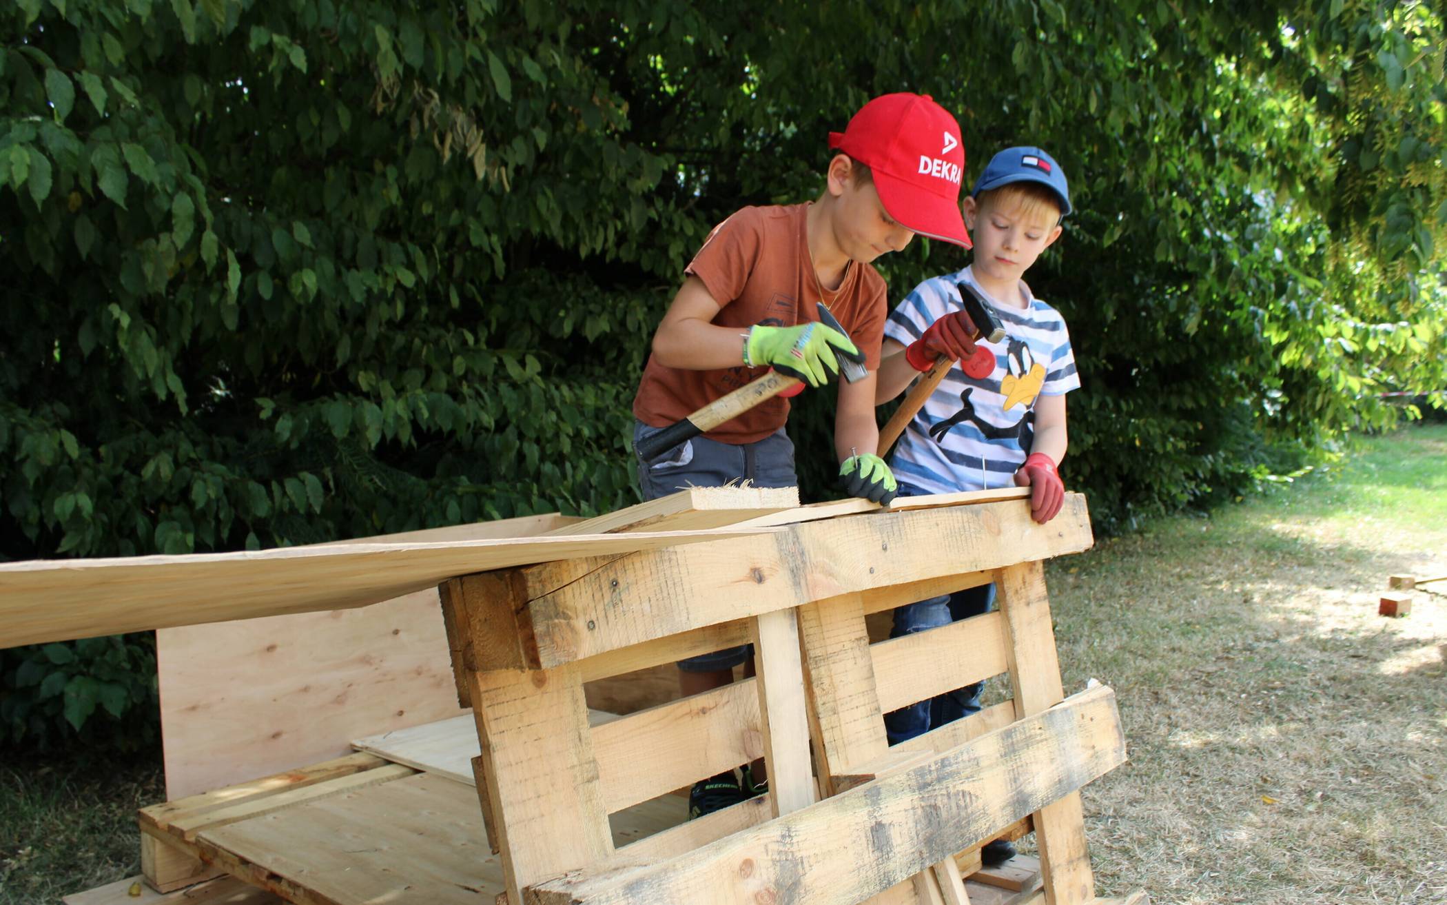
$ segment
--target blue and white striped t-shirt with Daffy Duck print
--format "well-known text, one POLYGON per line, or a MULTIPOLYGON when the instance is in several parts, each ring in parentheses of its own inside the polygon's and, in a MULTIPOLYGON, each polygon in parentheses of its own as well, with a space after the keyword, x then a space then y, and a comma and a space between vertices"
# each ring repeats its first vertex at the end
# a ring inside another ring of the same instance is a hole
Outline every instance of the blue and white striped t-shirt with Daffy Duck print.
POLYGON ((1081 385, 1061 313, 1035 298, 1024 282, 1024 310, 994 304, 968 266, 915 287, 890 313, 884 337, 907 346, 929 324, 962 310, 961 282, 991 301, 1006 337, 981 343, 996 353, 988 378, 971 378, 956 362, 894 447, 894 476, 925 494, 1010 487, 1035 439, 1035 400, 1081 385))

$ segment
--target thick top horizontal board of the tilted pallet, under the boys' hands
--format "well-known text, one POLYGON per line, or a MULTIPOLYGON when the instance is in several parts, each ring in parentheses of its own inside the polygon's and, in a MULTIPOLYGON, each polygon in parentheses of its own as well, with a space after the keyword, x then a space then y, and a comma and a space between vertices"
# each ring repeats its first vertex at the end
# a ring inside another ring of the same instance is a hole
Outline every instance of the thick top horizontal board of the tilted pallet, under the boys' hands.
POLYGON ((900 581, 996 569, 1091 544, 1079 494, 1036 524, 1019 501, 875 513, 640 552, 559 586, 553 566, 524 569, 527 618, 546 666, 702 626, 900 581), (537 597, 538 588, 553 588, 537 597))

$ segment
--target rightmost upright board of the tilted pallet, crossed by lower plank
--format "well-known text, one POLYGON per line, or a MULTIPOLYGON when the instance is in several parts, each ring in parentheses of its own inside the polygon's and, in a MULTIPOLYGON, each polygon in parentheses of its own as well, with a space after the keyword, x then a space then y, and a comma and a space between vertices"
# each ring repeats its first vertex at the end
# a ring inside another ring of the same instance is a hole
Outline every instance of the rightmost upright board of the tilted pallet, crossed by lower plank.
MULTIPOLYGON (((1001 615, 1010 627, 1010 683, 1016 712, 1029 717, 1064 699, 1061 663, 1051 624, 1045 571, 1027 562, 996 575, 1001 615)), ((1095 898, 1095 876, 1085 844, 1085 814, 1079 792, 1059 796, 1035 815, 1040 875, 1049 905, 1087 905, 1095 898)))

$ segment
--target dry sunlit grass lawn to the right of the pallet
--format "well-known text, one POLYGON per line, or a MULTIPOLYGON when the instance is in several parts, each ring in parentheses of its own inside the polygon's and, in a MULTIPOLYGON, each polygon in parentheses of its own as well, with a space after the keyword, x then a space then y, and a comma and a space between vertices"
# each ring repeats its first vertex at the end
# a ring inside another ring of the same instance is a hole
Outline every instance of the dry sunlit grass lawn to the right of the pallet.
POLYGON ((1130 752, 1085 791, 1103 892, 1447 902, 1447 597, 1379 617, 1393 573, 1447 573, 1447 429, 1051 565, 1066 688, 1113 685, 1130 752))

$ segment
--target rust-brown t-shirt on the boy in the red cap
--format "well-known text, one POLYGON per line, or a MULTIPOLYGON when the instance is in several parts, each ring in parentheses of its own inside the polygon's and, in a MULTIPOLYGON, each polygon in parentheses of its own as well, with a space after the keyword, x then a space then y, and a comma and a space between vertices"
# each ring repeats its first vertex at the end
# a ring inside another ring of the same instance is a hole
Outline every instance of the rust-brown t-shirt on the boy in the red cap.
MULTIPOLYGON (((748 332, 754 324, 792 327, 819 320, 819 288, 812 274, 805 233, 807 204, 745 207, 719 223, 703 240, 684 272, 703 281, 721 308, 715 324, 748 332)), ((888 314, 884 278, 867 264, 849 262, 838 292, 829 292, 829 310, 864 352, 870 371, 880 366, 880 339, 888 314)), ((739 339, 742 356, 744 340, 739 339)), ((653 427, 667 427, 713 400, 763 376, 768 368, 684 371, 648 359, 634 417, 653 427)), ((789 400, 774 397, 737 418, 719 424, 706 437, 722 443, 752 443, 783 427, 789 400)))

